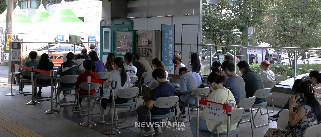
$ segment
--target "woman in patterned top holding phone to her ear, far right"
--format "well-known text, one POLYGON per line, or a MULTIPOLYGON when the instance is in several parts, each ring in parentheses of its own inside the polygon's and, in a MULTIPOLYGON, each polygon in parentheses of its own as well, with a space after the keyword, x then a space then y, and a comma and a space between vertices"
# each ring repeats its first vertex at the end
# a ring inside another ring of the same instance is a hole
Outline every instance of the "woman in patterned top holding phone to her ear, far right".
POLYGON ((317 102, 314 91, 311 91, 312 87, 312 81, 305 81, 299 85, 299 90, 295 91, 297 92, 296 96, 290 97, 289 110, 283 109, 280 113, 278 129, 269 128, 264 137, 274 137, 275 134, 278 136, 301 137, 306 128, 320 124, 321 105, 317 102), (301 105, 298 106, 299 103, 301 105), (298 106, 298 110, 295 112, 293 112, 294 106, 298 106), (293 127, 291 134, 285 130, 287 125, 293 127))

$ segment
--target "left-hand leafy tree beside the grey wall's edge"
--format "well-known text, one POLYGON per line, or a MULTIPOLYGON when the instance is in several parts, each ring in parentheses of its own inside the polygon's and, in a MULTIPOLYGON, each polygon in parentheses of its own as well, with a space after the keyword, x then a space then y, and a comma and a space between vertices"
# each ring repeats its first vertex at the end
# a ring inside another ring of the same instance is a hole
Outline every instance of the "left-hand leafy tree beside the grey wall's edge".
MULTIPOLYGON (((251 41, 242 32, 248 27, 262 24, 268 6, 265 0, 221 0, 215 5, 203 0, 203 39, 220 45, 241 45, 251 41)), ((226 53, 227 48, 221 49, 226 53)))

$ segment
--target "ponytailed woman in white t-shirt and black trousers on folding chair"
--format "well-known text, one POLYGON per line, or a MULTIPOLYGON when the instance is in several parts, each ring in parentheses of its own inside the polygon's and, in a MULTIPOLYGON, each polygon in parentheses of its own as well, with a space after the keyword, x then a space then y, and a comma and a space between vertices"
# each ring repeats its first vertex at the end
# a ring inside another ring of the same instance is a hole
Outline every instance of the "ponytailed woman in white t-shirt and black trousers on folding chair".
MULTIPOLYGON (((124 59, 123 58, 121 58, 121 57, 115 58, 114 64, 112 65, 112 67, 113 67, 113 69, 115 69, 115 71, 111 72, 109 74, 107 81, 113 81, 113 80, 117 81, 117 85, 114 90, 114 92, 115 92, 114 96, 115 96, 118 90, 130 88, 131 87, 130 83, 132 82, 132 80, 130 79, 128 73, 126 72, 126 70, 124 68, 125 66, 124 66, 124 59)), ((110 90, 111 90, 111 88, 110 88, 110 90)), ((100 111, 100 117, 97 119, 97 122, 99 122, 99 123, 105 122, 104 113, 105 113, 107 104, 111 103, 111 101, 112 101, 112 95, 110 92, 109 99, 103 98, 101 100, 102 110, 100 111)), ((123 98, 117 97, 115 99, 115 104, 124 104, 124 103, 127 103, 128 101, 129 101, 129 99, 123 99, 123 98)), ((116 111, 116 121, 118 121, 117 111, 116 111)))

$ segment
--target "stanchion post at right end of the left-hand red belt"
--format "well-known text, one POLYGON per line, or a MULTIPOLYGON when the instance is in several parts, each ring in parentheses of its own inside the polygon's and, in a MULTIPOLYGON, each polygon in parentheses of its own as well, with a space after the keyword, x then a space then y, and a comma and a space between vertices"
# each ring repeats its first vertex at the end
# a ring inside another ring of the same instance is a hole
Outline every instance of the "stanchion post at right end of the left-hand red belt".
MULTIPOLYGON (((114 129, 114 108, 115 108, 115 97, 114 97, 114 91, 115 91, 115 88, 116 88, 116 83, 117 83, 117 81, 116 80, 113 80, 112 82, 111 82, 111 88, 112 88, 112 90, 111 90, 111 96, 112 96, 112 101, 111 101, 111 120, 110 120, 110 122, 111 122, 111 126, 110 126, 110 129, 107 129, 107 130, 105 130, 105 131, 103 131, 102 133, 103 134, 107 134, 107 135, 116 135, 116 134, 119 134, 120 133, 120 130, 118 130, 118 129, 114 129)), ((108 119, 106 119, 106 120, 108 120, 108 119)))

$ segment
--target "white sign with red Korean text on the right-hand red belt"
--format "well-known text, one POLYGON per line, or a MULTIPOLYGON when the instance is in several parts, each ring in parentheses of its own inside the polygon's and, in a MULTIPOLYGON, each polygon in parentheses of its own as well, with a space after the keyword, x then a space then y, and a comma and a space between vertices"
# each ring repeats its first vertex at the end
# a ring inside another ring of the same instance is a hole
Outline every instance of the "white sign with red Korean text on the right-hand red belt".
MULTIPOLYGON (((224 122, 223 105, 207 102, 207 118, 224 122)), ((203 112, 204 113, 204 112, 203 112)))

